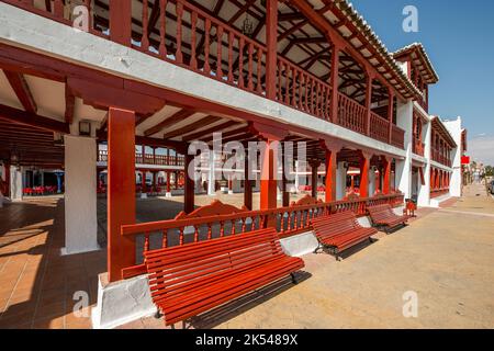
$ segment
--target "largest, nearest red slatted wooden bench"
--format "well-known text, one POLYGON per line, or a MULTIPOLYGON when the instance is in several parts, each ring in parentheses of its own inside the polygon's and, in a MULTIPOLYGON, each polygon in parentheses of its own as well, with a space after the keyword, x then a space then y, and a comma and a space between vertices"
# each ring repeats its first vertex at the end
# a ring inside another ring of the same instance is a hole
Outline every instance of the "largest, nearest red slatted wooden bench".
POLYGON ((287 256, 273 228, 144 253, 153 302, 173 325, 291 275, 300 258, 287 256))

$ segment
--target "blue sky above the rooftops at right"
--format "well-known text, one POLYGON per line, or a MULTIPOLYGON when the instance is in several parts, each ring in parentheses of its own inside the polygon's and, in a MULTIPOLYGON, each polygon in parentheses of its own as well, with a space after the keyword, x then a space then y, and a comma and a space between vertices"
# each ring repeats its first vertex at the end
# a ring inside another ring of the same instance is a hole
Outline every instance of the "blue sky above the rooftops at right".
POLYGON ((350 0, 391 52, 420 42, 439 75, 429 112, 460 115, 473 158, 494 165, 494 1, 350 0), (405 33, 405 5, 418 10, 418 33, 405 33))

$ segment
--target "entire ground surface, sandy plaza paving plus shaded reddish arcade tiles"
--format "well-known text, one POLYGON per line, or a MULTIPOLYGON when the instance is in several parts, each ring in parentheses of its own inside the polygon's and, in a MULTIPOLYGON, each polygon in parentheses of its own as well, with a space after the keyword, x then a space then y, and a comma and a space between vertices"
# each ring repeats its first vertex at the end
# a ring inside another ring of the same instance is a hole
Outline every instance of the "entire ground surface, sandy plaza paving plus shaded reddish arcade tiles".
MULTIPOLYGON (((242 204, 242 194, 218 195, 242 204)), ((255 203, 258 202, 256 201, 255 203)), ((211 201, 198 196, 197 205, 211 201)), ((139 220, 173 217, 181 199, 138 201, 139 220)), ((104 201, 99 202, 104 227, 104 201)), ((194 318, 193 328, 494 328, 494 199, 481 186, 412 224, 361 247, 343 262, 319 253, 303 259, 301 283, 289 280, 194 318), (417 318, 403 316, 415 292, 417 318)), ((104 230, 102 230, 104 240, 104 230)), ((72 313, 74 293, 97 298, 105 251, 60 257, 63 199, 35 199, 0 208, 0 328, 90 328, 72 313)), ((123 328, 162 328, 143 318, 123 328)))

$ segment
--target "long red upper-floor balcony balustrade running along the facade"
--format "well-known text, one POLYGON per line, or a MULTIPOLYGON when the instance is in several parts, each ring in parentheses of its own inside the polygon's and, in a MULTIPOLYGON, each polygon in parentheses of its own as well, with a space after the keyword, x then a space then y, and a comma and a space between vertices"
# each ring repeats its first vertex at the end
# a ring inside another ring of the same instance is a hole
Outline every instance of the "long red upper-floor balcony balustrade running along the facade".
MULTIPOLYGON (((0 1, 72 25, 70 11, 63 0, 0 1)), ((232 21, 212 15, 200 1, 142 0, 115 9, 109 1, 81 2, 89 10, 89 32, 93 35, 404 148, 404 131, 390 126, 386 118, 370 112, 361 102, 339 91, 335 93, 328 77, 323 79, 308 71, 311 65, 304 64, 302 68, 302 64, 293 63, 283 54, 272 54, 255 35, 245 35, 232 21), (272 67, 268 67, 269 63, 272 67)))

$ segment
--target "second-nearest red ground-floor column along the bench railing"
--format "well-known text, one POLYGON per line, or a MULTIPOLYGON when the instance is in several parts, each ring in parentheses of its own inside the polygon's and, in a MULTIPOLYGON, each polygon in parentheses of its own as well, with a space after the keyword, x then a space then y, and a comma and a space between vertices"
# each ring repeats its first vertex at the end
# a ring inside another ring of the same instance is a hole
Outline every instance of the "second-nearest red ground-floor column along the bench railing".
MULTIPOLYGON (((261 180, 260 180, 260 210, 277 208, 277 172, 278 172, 278 155, 273 149, 278 145, 277 140, 269 139, 263 150, 261 163, 261 180)), ((276 226, 276 218, 268 218, 268 227, 276 226)))

